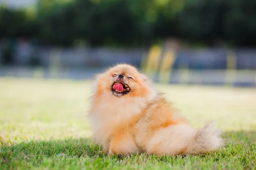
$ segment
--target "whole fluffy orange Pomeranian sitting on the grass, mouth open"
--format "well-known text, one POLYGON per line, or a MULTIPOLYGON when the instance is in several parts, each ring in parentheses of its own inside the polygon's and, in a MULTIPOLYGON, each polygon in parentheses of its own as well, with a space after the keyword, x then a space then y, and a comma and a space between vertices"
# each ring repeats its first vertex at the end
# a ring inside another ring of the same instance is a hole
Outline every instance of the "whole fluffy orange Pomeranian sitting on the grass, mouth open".
POLYGON ((223 145, 212 123, 196 130, 131 65, 97 75, 91 102, 92 139, 109 154, 199 154, 223 145))

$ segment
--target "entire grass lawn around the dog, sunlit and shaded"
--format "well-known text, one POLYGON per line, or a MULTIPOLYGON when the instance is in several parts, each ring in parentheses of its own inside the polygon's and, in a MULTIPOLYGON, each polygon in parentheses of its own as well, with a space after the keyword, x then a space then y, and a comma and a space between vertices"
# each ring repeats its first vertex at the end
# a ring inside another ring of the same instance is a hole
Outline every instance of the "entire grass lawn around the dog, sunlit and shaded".
POLYGON ((198 156, 108 156, 90 141, 90 82, 0 79, 0 169, 256 169, 256 88, 157 85, 200 127, 217 120, 227 145, 198 156))

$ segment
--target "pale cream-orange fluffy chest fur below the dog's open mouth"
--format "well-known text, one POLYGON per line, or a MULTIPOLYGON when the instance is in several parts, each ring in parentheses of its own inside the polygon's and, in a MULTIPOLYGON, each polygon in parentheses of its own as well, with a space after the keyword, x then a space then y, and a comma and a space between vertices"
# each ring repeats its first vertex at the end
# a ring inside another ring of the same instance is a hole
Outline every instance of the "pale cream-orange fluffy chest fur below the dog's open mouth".
POLYGON ((111 93, 94 96, 92 109, 89 113, 92 139, 100 144, 109 140, 109 136, 118 130, 129 128, 147 107, 148 101, 141 97, 121 97, 116 99, 111 93), (103 97, 104 96, 104 97, 103 97), (112 102, 115 101, 115 102, 112 102))

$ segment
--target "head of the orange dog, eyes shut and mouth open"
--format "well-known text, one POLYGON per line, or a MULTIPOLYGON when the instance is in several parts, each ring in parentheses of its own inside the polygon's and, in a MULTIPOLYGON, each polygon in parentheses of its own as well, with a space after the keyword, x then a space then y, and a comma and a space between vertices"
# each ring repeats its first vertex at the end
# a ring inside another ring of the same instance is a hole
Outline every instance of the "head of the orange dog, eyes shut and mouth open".
POLYGON ((152 91, 147 77, 135 67, 119 64, 98 75, 97 93, 111 91, 114 96, 146 96, 152 91))

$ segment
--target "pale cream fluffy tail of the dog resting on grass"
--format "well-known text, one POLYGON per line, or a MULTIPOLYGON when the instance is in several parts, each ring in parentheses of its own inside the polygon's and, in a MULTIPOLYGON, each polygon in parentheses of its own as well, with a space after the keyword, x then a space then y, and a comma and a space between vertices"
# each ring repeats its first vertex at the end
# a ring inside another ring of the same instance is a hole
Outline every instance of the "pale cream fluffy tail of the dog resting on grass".
POLYGON ((202 127, 193 141, 186 149, 188 154, 207 153, 217 150, 224 145, 224 139, 221 138, 221 131, 218 130, 213 122, 202 127))

